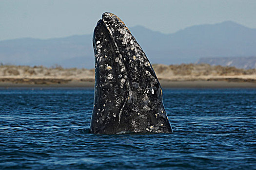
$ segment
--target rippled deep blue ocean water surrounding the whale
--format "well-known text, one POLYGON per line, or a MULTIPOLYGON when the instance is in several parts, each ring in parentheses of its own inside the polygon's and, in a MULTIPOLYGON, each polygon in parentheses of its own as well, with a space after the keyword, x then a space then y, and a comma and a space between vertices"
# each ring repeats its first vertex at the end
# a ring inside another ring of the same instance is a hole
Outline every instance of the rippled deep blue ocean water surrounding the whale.
POLYGON ((255 89, 164 89, 172 134, 89 134, 93 89, 0 89, 0 169, 256 169, 255 89))

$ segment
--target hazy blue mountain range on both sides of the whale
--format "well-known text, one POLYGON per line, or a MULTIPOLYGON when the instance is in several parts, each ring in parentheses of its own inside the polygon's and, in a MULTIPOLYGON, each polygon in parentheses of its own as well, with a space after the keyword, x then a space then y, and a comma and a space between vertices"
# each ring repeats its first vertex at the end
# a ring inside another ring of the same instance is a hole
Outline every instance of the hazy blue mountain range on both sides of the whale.
MULTIPOLYGON (((152 64, 195 63, 202 57, 256 56, 256 29, 232 21, 162 34, 142 26, 130 29, 152 64)), ((92 34, 64 38, 0 41, 0 62, 94 68, 92 34)))

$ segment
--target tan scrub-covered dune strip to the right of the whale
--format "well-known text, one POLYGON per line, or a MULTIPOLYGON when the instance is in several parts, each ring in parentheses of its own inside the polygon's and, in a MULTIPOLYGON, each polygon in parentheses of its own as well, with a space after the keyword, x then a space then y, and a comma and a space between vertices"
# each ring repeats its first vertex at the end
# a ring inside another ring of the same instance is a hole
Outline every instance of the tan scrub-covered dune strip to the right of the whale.
POLYGON ((159 79, 182 80, 256 80, 256 69, 211 66, 209 64, 153 65, 159 79))

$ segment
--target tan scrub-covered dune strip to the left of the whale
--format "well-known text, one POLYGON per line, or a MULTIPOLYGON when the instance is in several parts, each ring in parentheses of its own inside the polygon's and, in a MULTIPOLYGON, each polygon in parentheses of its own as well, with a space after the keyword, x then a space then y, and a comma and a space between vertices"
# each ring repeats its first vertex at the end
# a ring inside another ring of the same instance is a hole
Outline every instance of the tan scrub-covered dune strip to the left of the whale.
POLYGON ((0 82, 15 84, 65 84, 71 81, 94 82, 94 69, 62 68, 56 65, 52 68, 43 66, 0 66, 0 82))

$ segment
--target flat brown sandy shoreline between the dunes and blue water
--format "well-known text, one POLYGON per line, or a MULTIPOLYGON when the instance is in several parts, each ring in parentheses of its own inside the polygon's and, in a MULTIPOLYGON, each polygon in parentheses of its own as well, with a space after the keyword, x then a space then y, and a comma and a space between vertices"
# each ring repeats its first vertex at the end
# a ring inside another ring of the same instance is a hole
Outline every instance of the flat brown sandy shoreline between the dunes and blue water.
MULTIPOLYGON (((256 83, 227 80, 192 80, 171 81, 159 80, 162 88, 256 88, 256 83)), ((0 88, 94 88, 92 80, 39 80, 39 81, 4 81, 0 88)))

